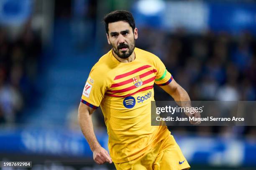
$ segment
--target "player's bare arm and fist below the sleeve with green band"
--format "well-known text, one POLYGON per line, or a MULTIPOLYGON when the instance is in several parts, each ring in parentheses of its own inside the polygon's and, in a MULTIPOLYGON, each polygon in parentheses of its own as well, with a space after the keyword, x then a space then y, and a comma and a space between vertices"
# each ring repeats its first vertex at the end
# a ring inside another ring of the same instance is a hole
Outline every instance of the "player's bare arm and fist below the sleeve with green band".
MULTIPOLYGON (((180 107, 191 107, 189 95, 175 80, 172 80, 168 85, 161 86, 161 88, 171 95, 180 107)), ((199 112, 186 113, 187 116, 201 117, 199 112)), ((190 121, 193 125, 200 124, 200 121, 190 121)))

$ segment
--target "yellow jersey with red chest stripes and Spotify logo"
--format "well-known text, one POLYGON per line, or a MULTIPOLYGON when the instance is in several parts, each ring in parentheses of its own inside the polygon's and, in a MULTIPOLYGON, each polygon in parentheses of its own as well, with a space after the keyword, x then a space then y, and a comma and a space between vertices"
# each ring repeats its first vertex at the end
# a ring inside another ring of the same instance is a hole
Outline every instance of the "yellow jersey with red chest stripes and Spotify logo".
POLYGON ((170 134, 166 126, 151 126, 153 85, 167 85, 172 75, 154 54, 134 49, 132 62, 119 62, 112 50, 92 67, 81 102, 101 107, 114 163, 138 158, 170 134))

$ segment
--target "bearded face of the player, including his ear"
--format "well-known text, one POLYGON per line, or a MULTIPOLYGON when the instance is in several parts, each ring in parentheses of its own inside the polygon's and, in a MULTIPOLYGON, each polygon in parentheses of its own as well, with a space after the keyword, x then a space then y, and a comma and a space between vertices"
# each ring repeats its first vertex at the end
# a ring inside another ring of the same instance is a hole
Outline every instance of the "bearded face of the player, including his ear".
POLYGON ((134 32, 125 21, 108 24, 108 44, 112 46, 115 54, 120 58, 128 58, 135 48, 135 40, 138 38, 137 28, 134 32))

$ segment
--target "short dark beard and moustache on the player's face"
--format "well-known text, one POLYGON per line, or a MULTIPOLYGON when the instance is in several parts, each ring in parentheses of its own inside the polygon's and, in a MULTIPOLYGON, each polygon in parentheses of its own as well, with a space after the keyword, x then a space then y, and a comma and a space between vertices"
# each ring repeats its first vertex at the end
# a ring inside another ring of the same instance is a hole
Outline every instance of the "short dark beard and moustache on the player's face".
POLYGON ((118 57, 125 59, 125 58, 130 57, 131 54, 133 53, 133 50, 135 48, 135 39, 133 40, 133 42, 131 42, 130 45, 123 43, 123 44, 118 45, 117 47, 115 47, 113 44, 111 44, 111 46, 112 46, 113 51, 115 52, 115 54, 118 57), (121 48, 127 48, 127 50, 122 51, 122 50, 120 50, 121 48))

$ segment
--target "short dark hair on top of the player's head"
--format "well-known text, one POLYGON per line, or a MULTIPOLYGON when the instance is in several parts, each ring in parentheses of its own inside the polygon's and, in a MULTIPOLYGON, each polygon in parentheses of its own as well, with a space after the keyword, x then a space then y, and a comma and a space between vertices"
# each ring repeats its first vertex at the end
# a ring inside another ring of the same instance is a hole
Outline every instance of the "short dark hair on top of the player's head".
POLYGON ((105 15, 105 17, 104 17, 105 30, 106 30, 107 34, 108 34, 108 24, 115 23, 118 21, 127 22, 134 31, 135 22, 134 22, 133 15, 130 12, 125 11, 125 10, 115 10, 115 11, 112 11, 111 13, 105 15))

